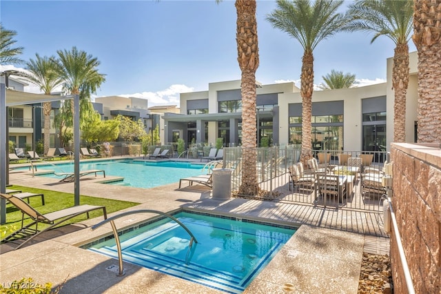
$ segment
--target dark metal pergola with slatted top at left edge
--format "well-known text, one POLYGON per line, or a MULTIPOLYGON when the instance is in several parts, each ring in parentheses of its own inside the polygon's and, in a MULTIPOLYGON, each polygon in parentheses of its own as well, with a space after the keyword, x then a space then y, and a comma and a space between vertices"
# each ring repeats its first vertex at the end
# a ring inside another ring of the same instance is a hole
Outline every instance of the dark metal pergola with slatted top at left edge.
MULTIPOLYGON (((15 72, 0 72, 0 76, 5 76, 6 84, 8 76, 15 75, 15 72)), ((80 204, 80 181, 79 181, 79 150, 80 150, 80 130, 79 130, 79 95, 74 96, 51 96, 33 94, 6 89, 6 84, 0 84, 0 193, 6 193, 6 173, 9 173, 7 166, 8 157, 8 112, 9 106, 19 106, 25 104, 36 104, 48 101, 59 101, 74 99, 74 204, 80 204)), ((0 224, 6 223, 6 200, 0 199, 0 224)))

